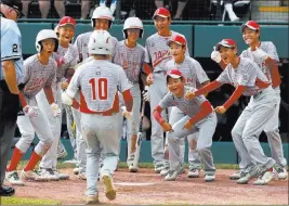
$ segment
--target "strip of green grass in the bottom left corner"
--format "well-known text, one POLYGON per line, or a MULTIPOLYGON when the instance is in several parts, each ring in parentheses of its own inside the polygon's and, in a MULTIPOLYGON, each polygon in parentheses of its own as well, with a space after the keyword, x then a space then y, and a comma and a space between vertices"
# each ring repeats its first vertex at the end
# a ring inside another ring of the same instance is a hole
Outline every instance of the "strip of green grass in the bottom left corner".
POLYGON ((1 205, 61 205, 60 201, 2 196, 1 205))

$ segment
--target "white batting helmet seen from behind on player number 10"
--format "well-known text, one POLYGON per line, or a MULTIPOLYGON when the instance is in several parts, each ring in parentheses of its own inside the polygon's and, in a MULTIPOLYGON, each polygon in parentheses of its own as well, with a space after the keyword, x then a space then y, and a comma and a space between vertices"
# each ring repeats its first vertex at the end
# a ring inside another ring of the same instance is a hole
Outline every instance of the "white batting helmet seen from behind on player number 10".
POLYGON ((106 30, 94 30, 89 40, 89 53, 90 54, 111 54, 113 52, 113 39, 106 30))

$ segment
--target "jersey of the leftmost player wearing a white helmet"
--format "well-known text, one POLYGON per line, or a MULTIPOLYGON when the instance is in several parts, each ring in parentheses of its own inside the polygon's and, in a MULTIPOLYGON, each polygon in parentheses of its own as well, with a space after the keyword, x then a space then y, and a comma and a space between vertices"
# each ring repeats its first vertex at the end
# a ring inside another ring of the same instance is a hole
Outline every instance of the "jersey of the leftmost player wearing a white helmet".
POLYGON ((24 61, 24 73, 22 82, 25 83, 23 93, 27 98, 35 96, 43 87, 51 86, 56 81, 57 64, 53 57, 43 65, 38 60, 37 54, 24 61))

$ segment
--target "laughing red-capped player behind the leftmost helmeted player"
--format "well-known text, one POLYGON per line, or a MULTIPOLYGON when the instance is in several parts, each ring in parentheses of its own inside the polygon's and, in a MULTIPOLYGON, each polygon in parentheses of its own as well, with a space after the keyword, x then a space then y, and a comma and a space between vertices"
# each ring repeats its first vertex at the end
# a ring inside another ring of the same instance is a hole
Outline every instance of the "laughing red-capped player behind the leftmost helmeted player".
MULTIPOLYGON (((58 113, 52 114, 51 107, 48 104, 47 99, 44 98, 43 91, 40 91, 37 94, 37 102, 39 107, 42 111, 45 111, 50 126, 53 132, 53 143, 48 153, 43 156, 42 160, 40 162, 40 168, 42 170, 50 170, 54 171, 54 173, 58 175, 60 179, 68 179, 69 176, 66 173, 60 173, 56 169, 57 165, 57 146, 60 143, 61 138, 61 125, 62 125, 62 81, 65 78, 70 78, 74 74, 74 66, 77 64, 78 61, 78 52, 74 44, 70 43, 76 28, 76 21, 73 17, 64 16, 58 23, 58 41, 60 47, 57 52, 53 53, 53 59, 57 63, 57 70, 56 70, 56 81, 52 85, 53 87, 53 95, 58 103, 58 113)), ((54 110, 54 108, 53 108, 54 110)))

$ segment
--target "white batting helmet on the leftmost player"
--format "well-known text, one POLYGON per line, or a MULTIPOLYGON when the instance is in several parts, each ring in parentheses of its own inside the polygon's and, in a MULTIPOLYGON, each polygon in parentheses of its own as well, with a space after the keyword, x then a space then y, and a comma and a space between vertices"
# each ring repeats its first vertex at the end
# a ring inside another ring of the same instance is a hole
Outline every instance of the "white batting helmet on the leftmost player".
POLYGON ((35 41, 36 50, 38 53, 42 50, 41 41, 43 41, 44 39, 55 39, 54 52, 58 50, 58 39, 56 33, 52 29, 42 29, 38 33, 35 41))

